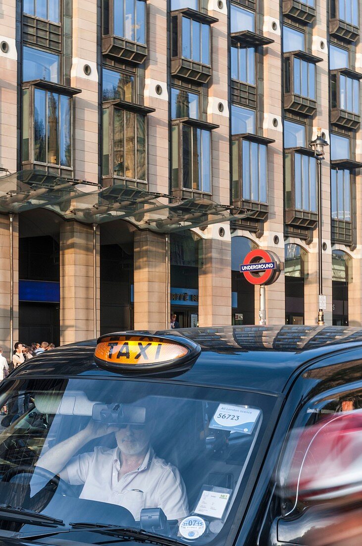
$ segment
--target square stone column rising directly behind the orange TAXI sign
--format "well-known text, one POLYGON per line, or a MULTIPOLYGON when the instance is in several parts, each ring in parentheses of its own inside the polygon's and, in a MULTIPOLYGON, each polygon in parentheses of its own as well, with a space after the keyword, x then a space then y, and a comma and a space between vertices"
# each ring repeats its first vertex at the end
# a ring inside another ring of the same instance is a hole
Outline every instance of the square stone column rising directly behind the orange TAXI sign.
POLYGON ((166 237, 146 230, 134 233, 135 330, 169 328, 170 251, 166 237))

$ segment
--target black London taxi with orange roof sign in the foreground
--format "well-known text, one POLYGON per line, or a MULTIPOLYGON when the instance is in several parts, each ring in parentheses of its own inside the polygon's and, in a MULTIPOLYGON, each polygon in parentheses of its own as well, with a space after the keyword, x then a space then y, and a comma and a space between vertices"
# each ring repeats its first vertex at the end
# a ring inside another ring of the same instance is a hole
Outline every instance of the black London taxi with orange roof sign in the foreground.
POLYGON ((309 546, 293 432, 359 412, 361 363, 361 329, 308 326, 121 332, 27 361, 0 386, 0 546, 309 546))

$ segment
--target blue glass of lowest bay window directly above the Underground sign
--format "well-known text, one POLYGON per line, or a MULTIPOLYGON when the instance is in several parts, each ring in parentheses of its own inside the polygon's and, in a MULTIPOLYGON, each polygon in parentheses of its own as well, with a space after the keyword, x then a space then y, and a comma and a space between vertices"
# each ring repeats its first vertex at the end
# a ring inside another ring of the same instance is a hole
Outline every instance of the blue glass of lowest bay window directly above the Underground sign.
POLYGON ((267 202, 267 146, 243 140, 243 199, 267 202))

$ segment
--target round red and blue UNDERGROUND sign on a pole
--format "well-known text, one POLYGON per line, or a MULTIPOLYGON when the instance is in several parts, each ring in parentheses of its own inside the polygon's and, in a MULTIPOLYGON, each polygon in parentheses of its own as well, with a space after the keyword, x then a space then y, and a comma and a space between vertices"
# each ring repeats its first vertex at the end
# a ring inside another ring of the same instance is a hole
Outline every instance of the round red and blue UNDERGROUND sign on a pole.
POLYGON ((240 272, 251 284, 273 284, 280 275, 280 260, 274 252, 257 248, 248 252, 240 272))

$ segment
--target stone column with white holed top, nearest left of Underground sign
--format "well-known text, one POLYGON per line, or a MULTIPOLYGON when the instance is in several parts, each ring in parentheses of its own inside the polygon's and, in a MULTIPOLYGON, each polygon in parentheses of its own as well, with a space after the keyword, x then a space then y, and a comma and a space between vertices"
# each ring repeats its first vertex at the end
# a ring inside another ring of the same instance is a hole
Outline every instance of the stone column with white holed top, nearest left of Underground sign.
POLYGON ((231 324, 231 238, 229 228, 223 227, 223 238, 219 224, 213 224, 199 242, 200 327, 231 324))

